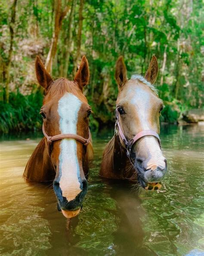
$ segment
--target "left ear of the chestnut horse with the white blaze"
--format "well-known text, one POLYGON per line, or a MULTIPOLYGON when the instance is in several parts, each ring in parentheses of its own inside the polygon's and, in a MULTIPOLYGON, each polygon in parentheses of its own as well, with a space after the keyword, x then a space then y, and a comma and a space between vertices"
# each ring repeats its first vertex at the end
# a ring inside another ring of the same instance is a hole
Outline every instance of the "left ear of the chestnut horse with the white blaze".
POLYGON ((35 74, 37 77, 38 83, 45 88, 48 89, 50 83, 53 81, 52 77, 46 71, 43 62, 40 60, 40 57, 37 56, 35 60, 35 74))

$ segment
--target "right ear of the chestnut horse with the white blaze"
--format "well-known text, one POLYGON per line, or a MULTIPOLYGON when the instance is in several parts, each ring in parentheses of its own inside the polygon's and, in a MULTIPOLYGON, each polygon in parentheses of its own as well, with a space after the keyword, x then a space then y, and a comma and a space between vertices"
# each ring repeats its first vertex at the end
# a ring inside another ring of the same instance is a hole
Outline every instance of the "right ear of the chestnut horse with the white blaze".
POLYGON ((89 82, 89 63, 85 56, 83 56, 81 59, 79 69, 76 76, 74 77, 74 82, 77 82, 82 91, 83 86, 86 86, 89 82))

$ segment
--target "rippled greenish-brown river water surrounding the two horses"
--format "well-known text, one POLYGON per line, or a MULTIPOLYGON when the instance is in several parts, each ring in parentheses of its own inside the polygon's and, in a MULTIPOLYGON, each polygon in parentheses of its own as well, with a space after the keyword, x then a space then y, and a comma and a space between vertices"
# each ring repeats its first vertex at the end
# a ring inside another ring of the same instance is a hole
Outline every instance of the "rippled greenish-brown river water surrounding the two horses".
POLYGON ((51 186, 22 179, 40 137, 2 138, 0 255, 204 255, 204 126, 161 127, 168 173, 160 191, 141 195, 128 183, 98 176, 111 135, 94 138, 89 190, 70 222, 57 211, 51 186))

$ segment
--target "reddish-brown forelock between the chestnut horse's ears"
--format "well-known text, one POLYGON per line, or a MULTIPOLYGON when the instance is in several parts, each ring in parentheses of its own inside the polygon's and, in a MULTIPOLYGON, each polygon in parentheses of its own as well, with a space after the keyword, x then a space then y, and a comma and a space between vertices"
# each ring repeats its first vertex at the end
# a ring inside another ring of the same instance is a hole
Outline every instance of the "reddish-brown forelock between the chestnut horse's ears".
POLYGON ((65 93, 77 94, 79 92, 80 92, 80 89, 76 82, 69 81, 68 79, 61 77, 61 78, 58 78, 57 80, 54 80, 53 83, 49 86, 47 95, 63 96, 65 93))

